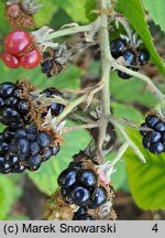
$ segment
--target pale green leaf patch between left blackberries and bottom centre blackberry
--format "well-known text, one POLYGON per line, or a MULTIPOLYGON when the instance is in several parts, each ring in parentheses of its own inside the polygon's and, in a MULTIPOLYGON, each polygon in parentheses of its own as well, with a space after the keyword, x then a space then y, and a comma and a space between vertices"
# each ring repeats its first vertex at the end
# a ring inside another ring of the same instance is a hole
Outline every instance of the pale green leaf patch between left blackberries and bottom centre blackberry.
MULTIPOLYGON (((73 126, 68 122, 67 126, 73 126)), ((44 163, 36 173, 28 172, 30 178, 45 194, 51 195, 57 188, 57 177, 59 173, 68 166, 72 156, 85 149, 90 141, 89 133, 85 130, 69 132, 64 138, 61 152, 44 163)))

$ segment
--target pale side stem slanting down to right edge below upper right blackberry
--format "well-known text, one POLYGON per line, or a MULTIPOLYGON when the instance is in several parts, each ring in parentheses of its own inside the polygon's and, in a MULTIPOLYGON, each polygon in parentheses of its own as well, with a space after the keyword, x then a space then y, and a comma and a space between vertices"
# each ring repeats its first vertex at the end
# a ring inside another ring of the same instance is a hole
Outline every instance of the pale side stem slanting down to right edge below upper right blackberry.
POLYGON ((140 78, 141 80, 145 82, 147 84, 148 90, 152 91, 155 97, 160 100, 161 106, 163 107, 163 112, 165 112, 165 95, 153 84, 153 82, 146 77, 145 75, 142 75, 138 72, 131 71, 127 67, 121 66, 120 64, 118 64, 116 61, 112 62, 112 66, 114 69, 124 72, 129 75, 135 76, 138 78, 140 78))

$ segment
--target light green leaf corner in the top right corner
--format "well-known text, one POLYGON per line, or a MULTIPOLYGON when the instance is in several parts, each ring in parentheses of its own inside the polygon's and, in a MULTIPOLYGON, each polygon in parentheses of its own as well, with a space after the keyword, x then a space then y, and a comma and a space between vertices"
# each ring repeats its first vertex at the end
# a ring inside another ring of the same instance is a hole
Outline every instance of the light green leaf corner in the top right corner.
POLYGON ((142 0, 153 21, 165 32, 165 1, 142 0))

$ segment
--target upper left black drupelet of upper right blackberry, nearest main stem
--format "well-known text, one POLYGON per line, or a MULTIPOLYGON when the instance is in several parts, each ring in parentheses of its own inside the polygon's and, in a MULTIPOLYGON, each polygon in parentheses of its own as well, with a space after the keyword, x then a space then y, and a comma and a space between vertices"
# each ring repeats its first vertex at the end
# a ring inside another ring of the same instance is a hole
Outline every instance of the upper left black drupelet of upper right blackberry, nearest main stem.
POLYGON ((121 56, 121 53, 124 51, 125 48, 125 41, 122 39, 116 39, 110 43, 110 48, 111 48, 111 55, 114 58, 118 58, 121 56))

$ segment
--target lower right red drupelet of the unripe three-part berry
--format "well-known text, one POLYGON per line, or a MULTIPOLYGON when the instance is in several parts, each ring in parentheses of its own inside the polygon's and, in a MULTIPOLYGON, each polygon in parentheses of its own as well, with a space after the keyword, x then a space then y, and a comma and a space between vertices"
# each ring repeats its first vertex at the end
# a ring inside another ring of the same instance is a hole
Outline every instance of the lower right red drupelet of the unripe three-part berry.
POLYGON ((20 65, 26 69, 35 68, 38 66, 41 60, 42 56, 40 51, 34 48, 33 51, 29 52, 20 58, 20 65))

